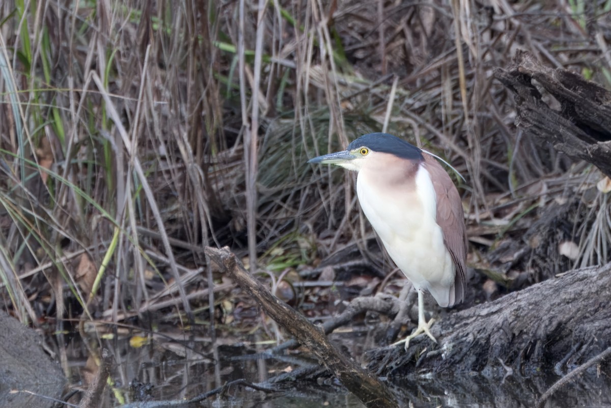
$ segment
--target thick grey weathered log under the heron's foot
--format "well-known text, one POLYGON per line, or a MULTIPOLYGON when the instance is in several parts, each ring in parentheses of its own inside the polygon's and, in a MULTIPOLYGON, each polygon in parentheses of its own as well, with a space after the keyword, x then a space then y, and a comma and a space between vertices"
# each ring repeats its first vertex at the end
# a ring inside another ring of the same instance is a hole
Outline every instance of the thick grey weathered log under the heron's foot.
POLYGON ((382 348, 368 353, 369 369, 382 376, 482 373, 507 370, 530 375, 562 373, 611 346, 611 264, 566 272, 494 302, 450 313, 428 338, 408 352, 382 348), (424 351, 424 352, 423 352, 424 351))

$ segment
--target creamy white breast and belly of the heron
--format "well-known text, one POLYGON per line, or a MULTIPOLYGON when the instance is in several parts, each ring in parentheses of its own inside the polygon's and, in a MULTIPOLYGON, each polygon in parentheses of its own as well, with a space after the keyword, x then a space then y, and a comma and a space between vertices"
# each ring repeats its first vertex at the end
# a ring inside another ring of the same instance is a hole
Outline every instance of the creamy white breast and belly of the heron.
POLYGON ((428 172, 417 171, 415 191, 393 191, 363 171, 356 186, 360 206, 390 258, 415 288, 430 291, 437 303, 447 305, 455 266, 436 222, 437 200, 428 172))

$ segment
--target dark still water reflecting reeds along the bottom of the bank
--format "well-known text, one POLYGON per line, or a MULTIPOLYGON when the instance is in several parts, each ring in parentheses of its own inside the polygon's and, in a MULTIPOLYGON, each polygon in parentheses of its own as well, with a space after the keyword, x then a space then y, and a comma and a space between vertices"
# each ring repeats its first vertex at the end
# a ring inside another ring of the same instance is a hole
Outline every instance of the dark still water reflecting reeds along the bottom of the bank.
MULTIPOLYGON (((115 358, 112 371, 114 385, 107 390, 100 407, 145 401, 186 401, 202 397, 189 407, 364 407, 353 395, 346 393, 307 352, 290 351, 270 357, 265 351, 274 344, 219 344, 210 347, 207 338, 169 338, 153 336, 144 345, 130 345, 130 338, 103 340, 115 358), (307 381, 291 381, 291 374, 310 367, 307 381), (271 384, 277 376, 284 382, 271 384), (273 387, 278 392, 266 393, 244 386, 249 383, 273 387), (223 395, 205 393, 232 384, 223 395)), ((70 364, 74 369, 73 381, 86 366, 87 351, 73 344, 70 364)), ((357 355, 357 354, 353 354, 357 355)), ((558 391, 544 406, 551 407, 611 407, 611 370, 608 364, 593 367, 577 382, 569 383, 558 391)), ((535 373, 530 377, 507 373, 505 378, 486 378, 481 374, 465 373, 455 376, 420 376, 416 378, 390 378, 387 383, 406 407, 533 407, 538 398, 559 377, 535 373)), ((133 406, 133 405, 132 405, 133 406)), ((170 406, 168 404, 162 406, 170 406)), ((186 406, 186 405, 183 405, 186 406)))

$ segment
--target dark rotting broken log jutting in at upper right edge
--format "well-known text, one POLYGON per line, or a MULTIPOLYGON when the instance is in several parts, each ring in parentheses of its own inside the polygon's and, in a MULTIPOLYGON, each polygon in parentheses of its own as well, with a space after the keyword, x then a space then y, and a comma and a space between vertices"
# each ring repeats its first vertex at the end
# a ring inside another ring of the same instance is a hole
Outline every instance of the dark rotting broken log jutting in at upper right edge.
POLYGON ((514 93, 515 123, 525 134, 611 177, 609 90, 572 71, 546 67, 526 52, 518 52, 506 70, 495 68, 494 76, 514 93), (560 111, 543 101, 533 79, 560 102, 560 111))

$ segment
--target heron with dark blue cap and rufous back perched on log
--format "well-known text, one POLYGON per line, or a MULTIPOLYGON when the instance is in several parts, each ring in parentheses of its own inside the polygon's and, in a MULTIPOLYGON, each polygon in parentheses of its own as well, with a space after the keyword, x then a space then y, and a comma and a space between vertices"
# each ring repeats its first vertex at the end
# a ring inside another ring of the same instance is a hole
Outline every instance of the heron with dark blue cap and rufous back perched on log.
POLYGON ((437 341, 430 332, 434 319, 427 322, 424 315, 425 291, 441 307, 459 304, 465 296, 463 203, 437 159, 399 137, 370 133, 346 150, 308 161, 357 172, 356 193, 365 217, 418 292, 418 327, 395 343, 405 343, 406 350, 423 333, 437 341))

